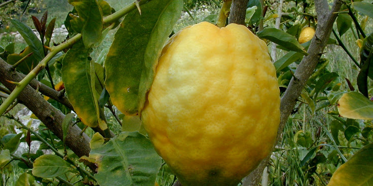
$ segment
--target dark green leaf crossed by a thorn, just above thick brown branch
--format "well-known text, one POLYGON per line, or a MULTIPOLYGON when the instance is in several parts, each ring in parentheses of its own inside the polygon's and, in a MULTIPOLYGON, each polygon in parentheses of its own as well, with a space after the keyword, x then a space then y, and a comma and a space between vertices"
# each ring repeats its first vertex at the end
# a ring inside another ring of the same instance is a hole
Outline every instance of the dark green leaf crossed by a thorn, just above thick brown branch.
MULTIPOLYGON (((7 58, 9 64, 15 64, 23 57, 27 56, 32 52, 30 47, 26 47, 20 54, 11 54, 7 58)), ((19 70, 23 74, 28 74, 39 62, 35 59, 34 53, 27 57, 23 62, 19 63, 15 69, 19 70)))

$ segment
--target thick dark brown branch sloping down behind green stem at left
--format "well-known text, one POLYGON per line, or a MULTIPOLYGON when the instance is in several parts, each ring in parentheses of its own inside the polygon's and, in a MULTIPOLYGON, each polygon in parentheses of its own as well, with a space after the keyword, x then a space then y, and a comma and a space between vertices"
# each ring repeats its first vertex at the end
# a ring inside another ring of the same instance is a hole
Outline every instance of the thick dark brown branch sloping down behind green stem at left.
MULTIPOLYGON (((23 77, 19 76, 11 69, 11 65, 0 59, 0 82, 9 90, 13 90, 15 85, 8 81, 19 82, 23 77), (8 80, 8 81, 6 81, 8 80)), ((54 108, 42 96, 40 96, 30 85, 19 94, 17 99, 22 102, 38 119, 45 124, 58 138, 62 139, 62 122, 65 115, 61 111, 54 108)), ((83 133, 80 135, 81 129, 75 125, 70 126, 67 136, 66 145, 79 157, 88 156, 90 148, 90 137, 83 133)))

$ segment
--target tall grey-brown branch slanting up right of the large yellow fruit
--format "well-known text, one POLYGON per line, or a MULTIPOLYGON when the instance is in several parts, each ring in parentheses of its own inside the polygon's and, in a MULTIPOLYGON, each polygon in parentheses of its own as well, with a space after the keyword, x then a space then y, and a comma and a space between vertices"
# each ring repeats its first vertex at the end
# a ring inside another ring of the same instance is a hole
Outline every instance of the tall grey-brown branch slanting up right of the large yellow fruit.
MULTIPOLYGON (((319 23, 317 25, 315 36, 313 37, 311 44, 308 48, 308 56, 304 57, 302 62, 298 65, 295 71, 296 79, 292 78, 284 95, 281 98, 280 105, 280 125, 277 135, 277 142, 282 138, 282 131, 286 124, 287 118, 289 117, 292 109, 296 104, 296 99, 302 92, 306 81, 313 73, 317 63, 319 62, 322 52, 326 46, 330 33, 332 32, 333 23, 337 18, 337 14, 333 13, 340 9, 342 5, 341 0, 335 0, 333 7, 330 11, 324 5, 327 4, 326 0, 315 0, 315 6, 318 13, 319 23)), ((276 144, 275 144, 276 145, 276 144)), ((275 146, 273 147, 273 149, 275 146)), ((269 155, 270 156, 270 155, 269 155)), ((260 180, 260 175, 263 173, 264 167, 268 164, 270 160, 267 157, 261 162, 259 167, 253 171, 248 177, 244 179, 243 186, 254 186, 260 180)))

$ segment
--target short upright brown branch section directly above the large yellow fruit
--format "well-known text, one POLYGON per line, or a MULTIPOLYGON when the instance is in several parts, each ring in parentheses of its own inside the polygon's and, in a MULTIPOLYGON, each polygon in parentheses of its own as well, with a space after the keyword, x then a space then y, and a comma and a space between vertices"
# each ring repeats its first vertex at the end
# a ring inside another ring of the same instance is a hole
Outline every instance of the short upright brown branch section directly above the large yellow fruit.
POLYGON ((245 25, 246 6, 249 0, 233 0, 231 12, 229 14, 229 23, 245 25))

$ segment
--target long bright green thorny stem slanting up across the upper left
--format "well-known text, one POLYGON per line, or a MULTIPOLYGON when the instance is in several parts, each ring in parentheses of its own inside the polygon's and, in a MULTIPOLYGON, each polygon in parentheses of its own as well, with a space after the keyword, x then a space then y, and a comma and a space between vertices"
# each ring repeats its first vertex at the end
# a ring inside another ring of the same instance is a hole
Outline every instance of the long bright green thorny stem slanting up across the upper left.
MULTIPOLYGON (((148 2, 149 0, 140 0, 139 4, 144 4, 148 2)), ((130 11, 136 9, 136 3, 133 2, 126 7, 118 10, 117 12, 108 15, 103 18, 103 24, 106 23, 112 23, 119 18, 123 17, 130 11)), ((11 103, 17 98, 17 96, 21 93, 21 91, 26 88, 28 83, 31 82, 32 79, 36 77, 36 75, 39 73, 39 71, 47 65, 47 63, 59 52, 63 51, 64 49, 68 49, 72 47, 76 42, 78 42, 80 39, 82 39, 82 34, 77 34, 71 39, 67 40, 65 43, 62 43, 61 45, 58 45, 56 47, 52 47, 50 53, 45 56, 45 58, 39 62, 37 66, 35 66, 30 73, 28 73, 20 82, 19 84, 14 88, 14 90, 11 92, 8 98, 5 99, 5 101, 0 105, 0 116, 4 114, 6 109, 11 105, 11 103)))

